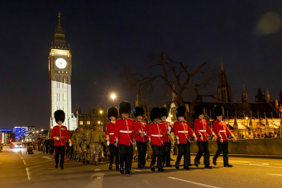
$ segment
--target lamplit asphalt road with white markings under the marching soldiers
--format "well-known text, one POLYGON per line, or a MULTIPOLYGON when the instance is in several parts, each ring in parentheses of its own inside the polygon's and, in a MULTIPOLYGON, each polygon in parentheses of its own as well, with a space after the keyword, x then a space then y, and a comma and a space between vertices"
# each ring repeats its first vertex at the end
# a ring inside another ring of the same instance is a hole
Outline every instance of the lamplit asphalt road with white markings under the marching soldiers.
MULTIPOLYGON (((26 149, 4 147, 0 153, 0 187, 281 187, 282 160, 229 157, 233 168, 223 167, 222 157, 213 169, 204 169, 203 157, 199 167, 192 170, 165 168, 166 172, 152 172, 132 164, 132 174, 108 170, 108 160, 98 166, 66 160, 64 170, 55 168, 53 155, 26 149)), ((191 156, 192 160, 194 156, 191 156)), ((174 156, 176 159, 176 156, 174 156)), ((212 157, 211 157, 212 161, 212 157)), ((174 161, 172 161, 174 164, 174 161)), ((183 164, 183 160, 182 163, 183 164)))

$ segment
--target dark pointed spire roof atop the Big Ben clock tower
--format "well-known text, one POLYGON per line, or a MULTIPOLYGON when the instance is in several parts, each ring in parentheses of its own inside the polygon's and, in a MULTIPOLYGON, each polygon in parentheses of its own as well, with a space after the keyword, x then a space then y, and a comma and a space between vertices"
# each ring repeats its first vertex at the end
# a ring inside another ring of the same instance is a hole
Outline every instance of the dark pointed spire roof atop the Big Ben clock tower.
POLYGON ((65 31, 62 28, 61 25, 61 13, 59 11, 58 13, 58 26, 55 29, 55 37, 54 37, 54 42, 52 43, 53 49, 61 49, 61 50, 69 50, 69 46, 66 44, 65 40, 65 31))

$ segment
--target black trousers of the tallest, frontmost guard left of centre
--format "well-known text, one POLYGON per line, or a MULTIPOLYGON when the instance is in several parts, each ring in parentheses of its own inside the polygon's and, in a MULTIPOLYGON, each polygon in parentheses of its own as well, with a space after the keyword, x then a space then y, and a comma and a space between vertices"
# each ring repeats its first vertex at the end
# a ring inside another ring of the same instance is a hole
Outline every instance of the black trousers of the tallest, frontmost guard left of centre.
POLYGON ((120 168, 123 168, 123 163, 125 163, 125 170, 130 170, 131 169, 131 164, 132 164, 132 155, 133 155, 133 145, 130 144, 124 145, 124 144, 119 144, 118 145, 119 150, 120 150, 120 168))

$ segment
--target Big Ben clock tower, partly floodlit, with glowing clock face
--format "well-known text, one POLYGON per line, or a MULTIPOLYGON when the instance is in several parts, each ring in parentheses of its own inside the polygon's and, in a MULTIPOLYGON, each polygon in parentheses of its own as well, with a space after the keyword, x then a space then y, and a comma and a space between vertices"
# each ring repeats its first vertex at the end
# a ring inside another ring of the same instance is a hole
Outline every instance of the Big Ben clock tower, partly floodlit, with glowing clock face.
POLYGON ((61 26, 60 17, 55 30, 55 38, 52 42, 49 54, 49 80, 50 80, 50 125, 57 125, 53 118, 56 110, 63 110, 66 114, 65 125, 70 130, 71 115, 71 54, 70 47, 66 45, 65 31, 61 26))

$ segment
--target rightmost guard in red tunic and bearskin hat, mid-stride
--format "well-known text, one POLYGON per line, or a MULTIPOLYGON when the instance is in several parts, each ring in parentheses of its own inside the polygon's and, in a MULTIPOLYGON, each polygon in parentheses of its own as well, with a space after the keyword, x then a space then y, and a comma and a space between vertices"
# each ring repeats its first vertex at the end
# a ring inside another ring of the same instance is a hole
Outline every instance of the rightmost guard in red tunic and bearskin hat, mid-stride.
POLYGON ((212 162, 216 165, 216 159, 221 152, 223 152, 223 165, 224 167, 233 167, 233 165, 228 162, 228 138, 226 133, 236 141, 237 138, 232 134, 232 132, 226 126, 226 123, 222 121, 222 117, 224 116, 224 108, 222 106, 215 106, 212 110, 212 114, 216 121, 212 124, 213 130, 217 136, 217 151, 212 158, 212 162))

